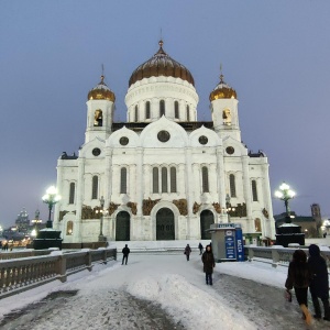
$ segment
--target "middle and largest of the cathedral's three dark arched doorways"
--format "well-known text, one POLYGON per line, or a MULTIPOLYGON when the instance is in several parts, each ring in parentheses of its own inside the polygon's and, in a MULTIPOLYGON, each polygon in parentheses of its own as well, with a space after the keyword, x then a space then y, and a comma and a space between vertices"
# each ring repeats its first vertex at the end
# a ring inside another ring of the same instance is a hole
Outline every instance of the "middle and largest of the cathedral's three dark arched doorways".
POLYGON ((170 209, 163 208, 156 215, 156 240, 175 240, 174 213, 170 209))

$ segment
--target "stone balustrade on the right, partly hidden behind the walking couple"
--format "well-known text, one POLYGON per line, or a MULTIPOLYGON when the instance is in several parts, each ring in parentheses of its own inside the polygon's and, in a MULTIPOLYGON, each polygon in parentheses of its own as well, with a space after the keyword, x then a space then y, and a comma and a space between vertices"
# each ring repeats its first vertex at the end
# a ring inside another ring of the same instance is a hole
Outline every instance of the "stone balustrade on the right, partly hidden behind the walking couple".
MULTIPOLYGON (((299 248, 262 248, 262 246, 244 246, 245 256, 251 262, 253 260, 265 260, 272 263, 273 267, 277 265, 288 266, 293 260, 294 252, 299 248)), ((302 248, 307 254, 308 249, 302 248)), ((321 251, 321 255, 326 258, 328 268, 330 267, 330 251, 321 251)))

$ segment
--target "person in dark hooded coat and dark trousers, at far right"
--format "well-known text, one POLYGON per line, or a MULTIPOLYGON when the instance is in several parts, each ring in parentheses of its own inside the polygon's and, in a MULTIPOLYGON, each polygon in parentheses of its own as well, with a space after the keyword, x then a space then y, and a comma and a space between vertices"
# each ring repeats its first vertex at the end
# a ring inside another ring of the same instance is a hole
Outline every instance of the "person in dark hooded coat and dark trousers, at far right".
POLYGON ((321 256, 320 248, 316 244, 309 246, 308 265, 311 272, 311 282, 309 286, 311 300, 315 310, 315 318, 320 319, 321 307, 319 298, 323 302, 324 317, 323 319, 330 321, 330 307, 329 307, 329 277, 327 262, 321 256))

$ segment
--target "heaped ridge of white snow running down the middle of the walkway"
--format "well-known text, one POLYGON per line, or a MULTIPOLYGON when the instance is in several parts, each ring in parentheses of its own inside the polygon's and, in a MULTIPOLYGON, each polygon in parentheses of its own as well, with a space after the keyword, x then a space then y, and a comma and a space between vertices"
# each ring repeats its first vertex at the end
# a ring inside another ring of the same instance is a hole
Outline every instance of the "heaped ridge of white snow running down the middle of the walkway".
POLYGON ((188 329, 254 329, 255 327, 177 274, 158 278, 145 277, 128 286, 128 292, 141 299, 160 304, 177 322, 188 329))

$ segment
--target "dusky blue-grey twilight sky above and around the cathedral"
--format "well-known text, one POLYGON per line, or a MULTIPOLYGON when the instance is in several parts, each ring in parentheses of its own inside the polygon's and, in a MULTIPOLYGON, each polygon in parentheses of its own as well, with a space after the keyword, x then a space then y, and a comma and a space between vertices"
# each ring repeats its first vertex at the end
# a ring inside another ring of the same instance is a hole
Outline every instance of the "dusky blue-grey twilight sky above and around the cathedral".
MULTIPOLYGON (((11 0, 0 3, 0 224, 23 207, 33 219, 56 184, 62 152, 78 152, 88 91, 100 80, 125 121, 132 72, 164 50, 193 74, 198 120, 224 80, 238 92, 242 140, 268 156, 272 193, 283 180, 292 210, 330 217, 329 0, 11 0)), ((274 213, 284 204, 273 199, 274 213)))

